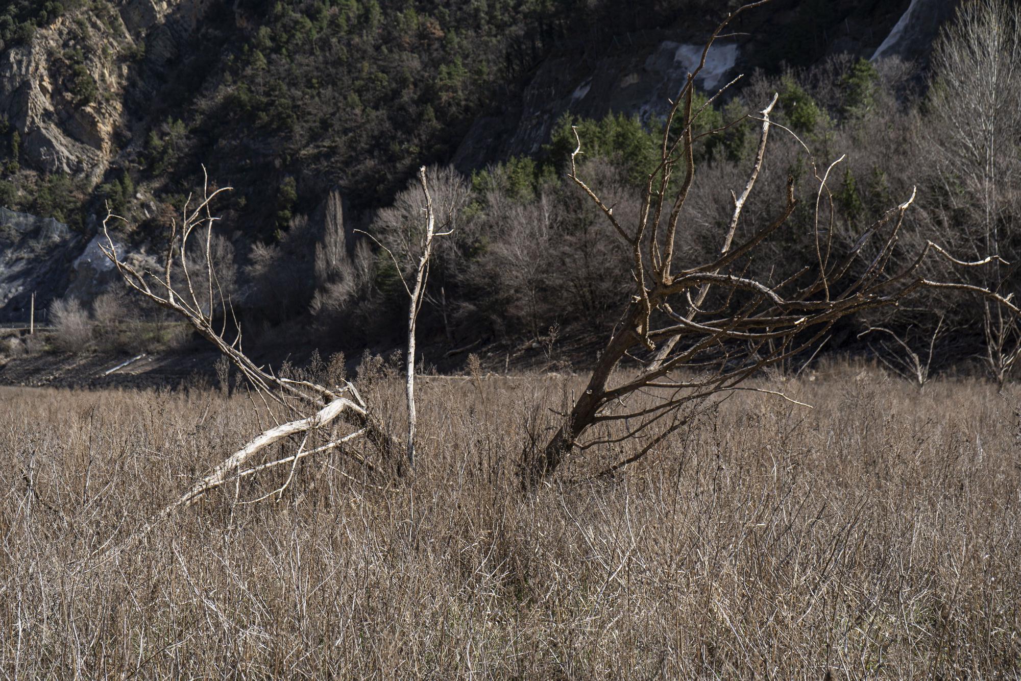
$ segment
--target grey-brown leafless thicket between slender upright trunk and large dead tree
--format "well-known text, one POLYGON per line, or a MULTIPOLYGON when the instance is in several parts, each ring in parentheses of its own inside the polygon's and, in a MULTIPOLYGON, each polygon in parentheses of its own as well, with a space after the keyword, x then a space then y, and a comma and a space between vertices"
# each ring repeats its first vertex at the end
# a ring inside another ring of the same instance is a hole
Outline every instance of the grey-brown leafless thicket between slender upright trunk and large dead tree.
MULTIPOLYGON (((598 207, 551 178, 523 191, 505 169, 488 172, 491 186, 477 192, 469 224, 483 245, 465 249, 458 271, 461 318, 512 342, 539 341, 554 324, 604 331, 620 313, 628 260, 598 207)), ((616 212, 637 212, 639 197, 618 164, 592 158, 586 173, 613 196, 616 212)))

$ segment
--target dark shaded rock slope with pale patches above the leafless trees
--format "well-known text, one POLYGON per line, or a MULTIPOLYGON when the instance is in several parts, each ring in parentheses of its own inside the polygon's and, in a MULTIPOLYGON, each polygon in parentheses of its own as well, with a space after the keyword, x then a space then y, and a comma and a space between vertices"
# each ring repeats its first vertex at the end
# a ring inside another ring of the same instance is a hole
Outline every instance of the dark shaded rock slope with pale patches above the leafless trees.
MULTIPOLYGON (((711 52, 711 76, 699 85, 714 91, 738 74, 806 68, 839 54, 896 57, 921 72, 939 27, 953 16, 957 4, 779 0, 739 17, 733 27, 736 35, 711 52), (722 67, 713 69, 714 61, 722 67)), ((618 25, 621 31, 598 45, 552 51, 530 75, 520 97, 488 107, 476 119, 454 163, 471 171, 535 154, 568 111, 587 118, 610 112, 638 113, 644 120, 663 115, 668 98, 697 63, 719 16, 710 9, 647 30, 618 25)))

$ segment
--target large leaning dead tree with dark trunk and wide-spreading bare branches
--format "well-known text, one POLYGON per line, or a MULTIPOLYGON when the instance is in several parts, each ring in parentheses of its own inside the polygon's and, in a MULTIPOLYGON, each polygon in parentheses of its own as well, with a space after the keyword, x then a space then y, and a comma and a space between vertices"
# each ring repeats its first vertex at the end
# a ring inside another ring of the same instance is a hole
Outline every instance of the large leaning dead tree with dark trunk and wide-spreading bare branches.
MULTIPOLYGON (((784 281, 748 275, 749 258, 783 228, 797 205, 791 179, 772 221, 750 236, 736 238, 741 211, 765 163, 767 141, 774 126, 770 114, 777 101, 775 95, 757 115, 747 116, 762 126, 758 152, 743 190, 739 195, 732 193, 731 217, 722 235, 720 255, 703 264, 675 270, 678 238, 683 239, 683 233, 679 233, 681 215, 695 175, 693 124, 701 108, 723 92, 693 110, 695 78, 706 64, 710 47, 727 25, 741 12, 763 4, 751 3, 732 12, 707 42, 698 66, 688 75, 667 114, 659 164, 648 175, 635 224, 622 222, 614 207, 579 177, 576 161, 582 153, 582 141, 577 140, 569 177, 598 206, 628 249, 634 290, 620 323, 595 359, 585 390, 570 412, 564 415, 563 425, 546 446, 529 455, 527 486, 550 476, 576 448, 584 453, 593 447, 641 440, 636 453, 604 468, 602 474, 642 458, 683 426, 685 419, 678 418, 682 406, 704 404, 735 390, 771 392, 742 383, 766 367, 812 349, 838 320, 869 308, 894 305, 920 288, 972 291, 995 300, 1012 313, 1018 312, 1010 301, 986 289, 928 281, 921 272, 929 253, 960 266, 1000 262, 996 257, 965 262, 930 242, 914 259, 891 272, 895 265, 894 246, 905 213, 915 199, 914 192, 867 229, 847 252, 833 253, 830 231, 820 228, 820 205, 829 200, 826 181, 836 163, 822 177, 816 174, 817 261, 784 281), (678 176, 680 184, 676 186, 678 176), (626 357, 637 359, 641 369, 620 371, 626 357), (668 416, 672 420, 663 427, 661 422, 668 416), (609 428, 612 425, 618 428, 616 432, 609 428), (599 434, 592 435, 592 431, 599 434)), ((719 131, 703 135, 714 132, 719 131)), ((575 135, 577 138, 577 131, 575 135)))

